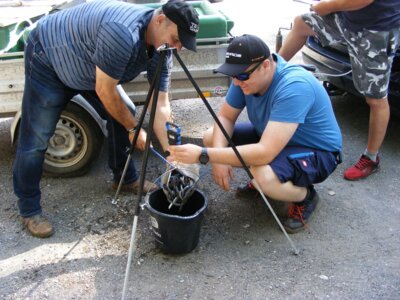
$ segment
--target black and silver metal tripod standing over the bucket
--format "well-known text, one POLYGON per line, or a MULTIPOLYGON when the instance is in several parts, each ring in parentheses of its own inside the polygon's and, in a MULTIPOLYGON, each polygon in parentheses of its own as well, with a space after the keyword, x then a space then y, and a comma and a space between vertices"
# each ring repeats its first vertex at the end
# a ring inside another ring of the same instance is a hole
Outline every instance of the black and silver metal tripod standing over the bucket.
POLYGON ((247 165, 244 162, 242 156, 238 152, 238 150, 237 150, 236 146, 234 145, 231 137, 226 132, 226 130, 223 127, 222 123, 219 121, 217 115, 213 111, 213 109, 212 109, 211 105, 208 103, 207 99, 204 97, 204 95, 203 95, 202 91, 200 90, 199 86, 197 85, 197 83, 193 79, 192 75, 190 74, 189 70, 187 69, 186 65, 184 64, 184 62, 180 58, 177 50, 175 48, 169 48, 169 46, 167 44, 165 44, 163 47, 160 47, 159 49, 157 49, 157 51, 159 51, 160 54, 161 54, 160 55, 160 60, 158 62, 157 68, 156 68, 155 76, 154 76, 153 81, 152 81, 152 83, 150 85, 150 89, 149 89, 149 92, 148 92, 147 97, 146 97, 146 102, 145 102, 144 107, 143 107, 143 112, 142 112, 142 114, 140 116, 138 125, 136 127, 136 132, 135 132, 133 141, 131 143, 131 147, 129 149, 129 154, 128 154, 128 157, 127 157, 127 161, 126 161, 124 170, 122 172, 122 176, 121 176, 121 179, 120 179, 120 182, 119 182, 119 185, 118 185, 118 189, 117 189, 117 191, 115 193, 115 197, 114 197, 115 200, 118 199, 118 195, 119 195, 123 180, 125 178, 125 174, 126 174, 126 171, 128 169, 129 162, 132 159, 132 154, 133 154, 133 151, 134 151, 134 148, 135 148, 135 145, 136 145, 136 141, 137 141, 137 138, 138 138, 138 135, 139 135, 139 131, 142 128, 144 117, 145 117, 147 108, 149 106, 151 96, 153 95, 153 102, 152 102, 152 106, 151 106, 151 110, 150 110, 149 130, 148 130, 148 135, 147 135, 147 139, 146 139, 146 145, 145 145, 143 161, 142 161, 142 167, 141 167, 141 172, 140 172, 139 193, 138 193, 138 197, 137 197, 137 201, 136 201, 136 205, 135 205, 135 209, 134 209, 134 218, 133 218, 133 225, 132 225, 131 240, 130 240, 130 245, 129 245, 128 261, 127 261, 126 270, 125 270, 124 286, 123 286, 123 290, 122 290, 122 299, 125 299, 125 296, 126 296, 126 290, 127 290, 127 285, 128 285, 128 281, 129 281, 129 275, 130 275, 130 266, 131 266, 131 263, 132 263, 132 257, 134 256, 133 255, 134 251, 136 249, 136 243, 135 243, 136 242, 136 238, 135 238, 135 236, 136 236, 137 220, 138 220, 138 215, 139 215, 139 212, 140 212, 140 201, 141 201, 142 196, 143 196, 143 186, 144 186, 144 182, 145 182, 148 154, 149 154, 149 149, 150 149, 150 140, 151 140, 151 136, 153 134, 154 117, 155 117, 155 113, 156 113, 158 94, 159 94, 159 89, 160 89, 161 67, 162 67, 162 64, 164 62, 164 59, 165 59, 167 51, 172 51, 173 52, 175 58, 177 59, 177 61, 179 62, 180 66, 184 70, 186 76, 188 77, 188 79, 192 83, 193 87, 195 88, 196 92, 198 93, 198 95, 202 99, 202 101, 205 104, 205 106, 207 107, 207 109, 210 112, 211 116, 213 117, 214 121, 217 123, 218 127, 220 128, 220 130, 224 134, 225 138, 229 142, 230 147, 233 149, 233 151, 235 152, 237 158, 239 159, 242 167, 245 169, 245 171, 246 171, 247 175, 249 176, 250 180, 253 181, 254 186, 256 187, 258 192, 261 194, 261 196, 264 199, 266 205, 268 206, 268 209, 271 211, 272 215, 274 216, 274 218, 275 218, 276 222, 278 223, 279 227, 281 228, 282 232, 284 233, 284 235, 288 239, 290 245, 293 248, 294 254, 296 254, 296 255, 299 254, 299 250, 297 250, 297 248, 294 245, 293 241, 291 240, 291 238, 287 234, 285 228, 282 226, 282 223, 278 219, 274 209, 271 207, 270 203, 268 202, 267 198, 265 197, 264 193, 262 192, 260 186, 255 181, 253 175, 250 172, 250 169, 247 167, 247 165), (154 94, 153 94, 153 92, 154 92, 154 94))

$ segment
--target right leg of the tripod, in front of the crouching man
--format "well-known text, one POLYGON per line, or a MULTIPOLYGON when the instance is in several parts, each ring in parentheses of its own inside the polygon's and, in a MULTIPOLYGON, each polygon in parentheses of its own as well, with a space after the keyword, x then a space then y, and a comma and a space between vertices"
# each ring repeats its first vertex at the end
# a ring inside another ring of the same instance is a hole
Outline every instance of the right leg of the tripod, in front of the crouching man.
POLYGON ((276 213, 275 213, 274 209, 272 208, 271 204, 269 203, 269 201, 265 197, 264 193, 261 191, 260 186, 257 184, 256 180, 254 179, 253 174, 251 174, 250 169, 247 167, 245 161, 243 160, 242 156, 240 155, 239 151, 237 150, 237 148, 236 148, 235 144, 233 143, 231 137, 226 132, 224 126, 222 125, 222 123, 218 119, 217 115, 213 111, 210 103, 208 103, 207 99, 204 97, 203 92, 200 90, 199 86, 197 85, 196 81, 193 79, 192 75, 190 74, 189 70, 187 69, 187 67, 183 63, 182 59, 180 58, 180 56, 179 56, 179 54, 178 54, 178 52, 176 50, 174 50, 174 55, 175 55, 175 58, 178 60, 179 64, 181 65, 182 69, 185 71, 186 76, 189 78, 189 80, 192 83, 193 87, 196 89, 196 92, 200 95, 201 100, 203 100, 203 103, 207 107, 207 109, 210 112, 211 116, 213 117, 215 123, 217 123, 219 129, 222 131, 222 133, 225 136, 226 140, 229 142, 229 146, 231 146, 232 150, 235 152, 237 158, 239 159, 240 163, 242 164, 242 167, 245 169, 245 171, 246 171, 247 175, 249 176, 250 180, 252 180, 252 181, 254 181, 256 183, 256 187, 258 187, 257 188, 258 192, 261 194, 261 197, 264 199, 265 203, 267 204, 268 209, 271 211, 272 215, 274 216, 276 222, 279 225, 279 228, 282 230, 282 232, 285 234, 286 238, 288 239, 290 245, 293 248, 293 253, 296 254, 296 255, 299 254, 299 250, 294 245, 292 239, 287 234, 285 228, 283 227, 281 221, 279 220, 278 216, 276 215, 276 213))

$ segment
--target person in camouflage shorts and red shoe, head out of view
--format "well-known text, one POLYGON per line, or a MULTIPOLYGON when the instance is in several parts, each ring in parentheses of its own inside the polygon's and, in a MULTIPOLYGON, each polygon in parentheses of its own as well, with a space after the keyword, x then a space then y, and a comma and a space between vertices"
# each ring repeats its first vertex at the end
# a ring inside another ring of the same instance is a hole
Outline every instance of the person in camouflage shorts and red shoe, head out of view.
POLYGON ((366 178, 379 168, 378 151, 390 117, 387 93, 400 45, 400 0, 319 1, 311 10, 295 19, 279 54, 290 60, 308 36, 317 36, 323 46, 347 46, 354 86, 365 96, 370 118, 367 147, 343 176, 347 180, 366 178))

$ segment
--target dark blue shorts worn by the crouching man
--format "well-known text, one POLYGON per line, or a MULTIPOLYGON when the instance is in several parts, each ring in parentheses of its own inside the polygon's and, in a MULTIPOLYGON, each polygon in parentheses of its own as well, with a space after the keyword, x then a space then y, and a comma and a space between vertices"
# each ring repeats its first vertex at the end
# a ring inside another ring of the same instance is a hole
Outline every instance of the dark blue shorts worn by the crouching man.
MULTIPOLYGON (((258 143, 260 136, 250 122, 238 123, 235 124, 232 140, 239 146, 258 143)), ((280 182, 291 181, 296 186, 310 186, 324 181, 340 163, 339 152, 287 146, 269 165, 280 182)))

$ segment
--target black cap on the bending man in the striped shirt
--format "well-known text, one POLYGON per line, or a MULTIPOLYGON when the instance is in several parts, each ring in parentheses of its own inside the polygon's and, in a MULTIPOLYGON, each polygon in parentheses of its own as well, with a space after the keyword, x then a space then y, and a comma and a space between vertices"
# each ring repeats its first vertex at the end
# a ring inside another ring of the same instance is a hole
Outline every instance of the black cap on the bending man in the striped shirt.
POLYGON ((179 40, 183 47, 196 52, 196 34, 199 31, 199 15, 185 1, 169 0, 162 11, 178 26, 179 40))

